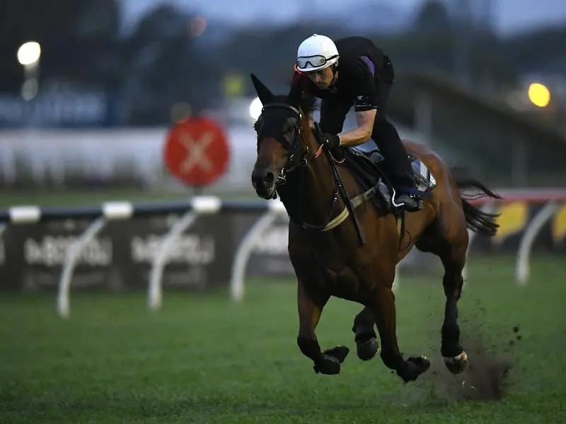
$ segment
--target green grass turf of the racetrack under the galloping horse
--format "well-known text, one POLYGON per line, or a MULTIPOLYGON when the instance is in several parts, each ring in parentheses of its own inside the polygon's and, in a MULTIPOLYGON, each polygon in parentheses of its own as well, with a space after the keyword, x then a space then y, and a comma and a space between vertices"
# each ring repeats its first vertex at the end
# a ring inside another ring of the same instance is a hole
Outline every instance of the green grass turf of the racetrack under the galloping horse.
MULTIPOLYGON (((453 401, 432 370, 402 384, 379 358, 362 363, 354 351, 340 375, 316 375, 296 347, 290 282, 256 282, 243 305, 224 293, 166 293, 154 314, 144 293, 73 293, 67 322, 54 296, 4 296, 0 423, 563 423, 565 268, 538 260, 532 281, 517 288, 512 261, 472 260, 463 331, 480 326, 497 352, 516 336, 513 326, 523 338, 509 352, 508 394, 494 402, 453 401)), ((428 355, 454 379, 439 354, 440 280, 403 280, 397 305, 402 350, 428 355)), ((330 300, 320 343, 353 348, 358 310, 330 300)))

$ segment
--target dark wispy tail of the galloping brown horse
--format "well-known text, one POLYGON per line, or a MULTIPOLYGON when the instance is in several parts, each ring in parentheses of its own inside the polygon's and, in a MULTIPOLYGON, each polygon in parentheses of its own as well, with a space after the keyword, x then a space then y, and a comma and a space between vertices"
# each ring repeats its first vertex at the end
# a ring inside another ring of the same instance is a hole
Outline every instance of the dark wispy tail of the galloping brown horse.
POLYGON ((482 211, 479 207, 470 204, 470 200, 480 199, 482 197, 501 199, 501 196, 492 192, 477 179, 464 175, 463 171, 463 168, 454 167, 451 169, 452 175, 454 175, 456 179, 456 184, 460 189, 463 211, 466 216, 468 228, 478 232, 478 234, 491 237, 495 235, 497 228, 499 228, 499 224, 495 221, 499 213, 487 213, 482 211), (463 191, 466 189, 476 189, 476 192, 475 194, 465 194, 463 191))

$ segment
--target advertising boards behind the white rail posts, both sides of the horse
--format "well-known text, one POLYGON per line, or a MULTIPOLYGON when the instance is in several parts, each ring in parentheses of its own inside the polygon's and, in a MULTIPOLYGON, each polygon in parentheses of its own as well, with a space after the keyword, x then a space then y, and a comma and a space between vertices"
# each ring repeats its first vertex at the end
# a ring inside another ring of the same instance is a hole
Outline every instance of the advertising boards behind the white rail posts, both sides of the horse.
MULTIPOLYGON (((473 255, 516 255, 526 228, 545 203, 510 201, 498 206, 495 237, 475 237, 473 255)), ((167 213, 110 220, 81 250, 72 276, 73 290, 146 290, 152 261, 163 237, 180 219, 167 213)), ((198 216, 175 241, 163 271, 164 290, 203 290, 227 285, 238 246, 262 212, 219 212, 198 216)), ((69 249, 92 220, 67 219, 30 225, 6 225, 0 231, 0 290, 57 290, 69 249)), ((246 276, 292 278, 287 252, 288 220, 282 214, 255 240, 246 276)), ((566 206, 558 204, 543 223, 533 252, 566 254, 566 206)), ((413 249, 414 254, 420 254, 413 249)), ((418 264, 418 261, 415 263, 418 264)), ((404 266, 412 266, 406 261, 404 266)), ((403 265, 403 263, 402 263, 403 265)), ((418 265, 419 269, 422 266, 418 265)))

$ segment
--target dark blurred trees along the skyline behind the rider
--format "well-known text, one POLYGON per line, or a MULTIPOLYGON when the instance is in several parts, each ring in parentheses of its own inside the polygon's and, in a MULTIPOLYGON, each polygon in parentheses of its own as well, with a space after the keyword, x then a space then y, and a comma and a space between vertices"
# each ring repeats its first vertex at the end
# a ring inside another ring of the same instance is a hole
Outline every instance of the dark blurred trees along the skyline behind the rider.
MULTIPOLYGON (((42 46, 41 81, 66 81, 105 90, 126 105, 128 122, 169 121, 171 105, 207 107, 221 97, 225 73, 258 73, 283 88, 292 73, 298 42, 312 33, 350 35, 340 23, 316 21, 287 28, 233 30, 222 45, 190 37, 192 13, 162 4, 148 11, 130 33, 120 28, 117 0, 0 1, 0 92, 17 94, 23 71, 18 47, 28 40, 42 46)), ((365 34, 394 59, 396 71, 434 69, 454 73, 458 35, 466 31, 472 78, 488 75, 512 83, 528 66, 566 54, 566 28, 550 28, 501 40, 480 28, 463 28, 439 1, 428 1, 412 28, 401 35, 365 34)), ((248 93, 253 93, 248 86, 248 93)))

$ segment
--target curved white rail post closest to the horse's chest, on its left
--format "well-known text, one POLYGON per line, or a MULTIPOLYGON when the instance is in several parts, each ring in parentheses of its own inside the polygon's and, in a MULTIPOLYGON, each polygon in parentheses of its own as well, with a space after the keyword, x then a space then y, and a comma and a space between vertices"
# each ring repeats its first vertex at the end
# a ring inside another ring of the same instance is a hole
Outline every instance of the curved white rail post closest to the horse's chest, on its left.
POLYGON ((285 213, 285 206, 279 199, 267 203, 267 211, 258 219, 246 233, 246 237, 236 250, 236 257, 232 264, 230 294, 234 302, 241 302, 245 291, 244 280, 246 276, 246 265, 250 260, 255 243, 262 233, 272 225, 277 216, 285 213))

